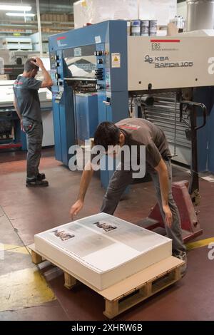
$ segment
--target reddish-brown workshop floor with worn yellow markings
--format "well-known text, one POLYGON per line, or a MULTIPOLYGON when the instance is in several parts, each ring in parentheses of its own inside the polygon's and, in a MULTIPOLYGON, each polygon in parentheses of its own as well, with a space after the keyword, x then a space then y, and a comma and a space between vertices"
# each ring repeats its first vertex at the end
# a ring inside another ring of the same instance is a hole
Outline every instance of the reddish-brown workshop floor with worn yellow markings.
MULTIPOLYGON (((49 187, 26 188, 25 168, 25 153, 0 154, 0 319, 105 320, 101 296, 83 285, 68 291, 61 270, 47 262, 36 267, 27 248, 34 242, 34 234, 70 221, 69 209, 76 200, 81 172, 71 172, 57 162, 52 149, 43 150, 41 159, 41 172, 46 173, 49 187)), ((187 179, 183 169, 173 168, 174 181, 187 179)), ((198 210, 204 232, 198 239, 214 237, 213 190, 214 183, 200 180, 198 210)), ((95 175, 78 217, 98 212, 103 194, 95 175)), ((132 185, 115 215, 136 223, 148 215, 155 202, 151 182, 132 185)), ((207 245, 196 245, 188 252, 188 273, 180 282, 121 314, 118 320, 213 320, 214 260, 208 259, 208 252, 207 245)))

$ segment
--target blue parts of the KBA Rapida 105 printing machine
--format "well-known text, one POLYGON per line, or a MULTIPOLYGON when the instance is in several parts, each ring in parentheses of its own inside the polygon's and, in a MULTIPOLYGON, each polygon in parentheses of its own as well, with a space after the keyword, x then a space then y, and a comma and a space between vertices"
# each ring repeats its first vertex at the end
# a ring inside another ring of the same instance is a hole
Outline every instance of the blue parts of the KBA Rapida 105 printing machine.
MULTIPOLYGON (((54 81, 54 133, 56 159, 68 165, 68 150, 81 139, 91 137, 96 128, 96 111, 87 102, 88 96, 73 102, 71 81, 95 81, 97 90, 98 123, 103 120, 117 122, 128 117, 128 51, 126 21, 106 21, 100 24, 59 33, 49 38, 51 77, 54 81), (95 56, 94 56, 95 55, 95 56), (113 57, 119 58, 118 66, 113 57), (113 65, 114 64, 114 65, 113 65), (76 71, 78 70, 78 71, 76 71), (95 73, 95 76, 94 76, 95 73), (86 108, 83 111, 84 108, 86 108), (91 120, 91 113, 94 118, 91 120), (83 114, 87 130, 83 133, 83 114), (89 120, 89 123, 88 123, 89 120), (77 128, 76 128, 77 125, 77 128), (90 130, 88 130, 90 129, 90 130)), ((211 150, 213 131, 213 103, 210 104, 212 87, 194 88, 193 100, 205 103, 209 116, 205 128, 198 131, 198 170, 214 172, 214 153, 211 150), (210 143, 208 145, 208 143, 210 143)), ((76 97, 78 93, 76 93, 76 97)), ((93 98, 95 100, 95 98, 93 98)), ((212 99, 211 99, 212 100, 212 99)), ((95 103, 95 101, 93 102, 95 103)), ((95 103, 96 104, 96 103, 95 103)), ((198 123, 200 124, 200 116, 198 123)), ((108 185, 112 172, 101 171, 101 183, 108 185)))

